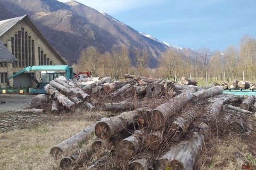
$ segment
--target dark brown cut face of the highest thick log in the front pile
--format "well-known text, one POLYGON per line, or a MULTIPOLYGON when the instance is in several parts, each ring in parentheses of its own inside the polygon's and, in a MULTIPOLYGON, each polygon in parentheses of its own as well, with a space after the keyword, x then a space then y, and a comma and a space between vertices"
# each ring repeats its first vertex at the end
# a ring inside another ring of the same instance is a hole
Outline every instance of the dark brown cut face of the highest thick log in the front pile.
POLYGON ((153 130, 160 129, 163 127, 164 122, 164 116, 160 111, 154 110, 151 112, 151 114, 148 116, 147 125, 153 130))

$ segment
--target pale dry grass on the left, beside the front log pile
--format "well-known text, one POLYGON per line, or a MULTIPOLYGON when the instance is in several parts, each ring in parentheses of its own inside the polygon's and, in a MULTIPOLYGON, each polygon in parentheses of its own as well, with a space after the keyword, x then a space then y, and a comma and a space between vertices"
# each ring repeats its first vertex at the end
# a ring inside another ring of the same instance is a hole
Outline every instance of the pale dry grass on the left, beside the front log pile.
MULTIPOLYGON (((23 130, 0 133, 0 170, 55 170, 55 161, 49 150, 55 144, 73 136, 107 113, 82 112, 67 116, 58 122, 49 122, 23 130)), ((93 135, 89 138, 92 139, 93 135)), ((88 140, 81 144, 84 147, 88 140)), ((69 152, 63 156, 69 155, 69 152)))

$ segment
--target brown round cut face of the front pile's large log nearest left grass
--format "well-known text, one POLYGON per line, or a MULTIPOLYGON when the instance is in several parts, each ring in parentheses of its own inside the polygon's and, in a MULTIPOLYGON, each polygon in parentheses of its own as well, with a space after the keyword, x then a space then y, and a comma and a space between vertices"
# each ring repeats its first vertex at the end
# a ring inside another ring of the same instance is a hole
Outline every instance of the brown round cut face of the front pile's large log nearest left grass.
POLYGON ((111 128, 105 122, 99 122, 95 125, 95 135, 99 139, 108 139, 111 134, 111 128))

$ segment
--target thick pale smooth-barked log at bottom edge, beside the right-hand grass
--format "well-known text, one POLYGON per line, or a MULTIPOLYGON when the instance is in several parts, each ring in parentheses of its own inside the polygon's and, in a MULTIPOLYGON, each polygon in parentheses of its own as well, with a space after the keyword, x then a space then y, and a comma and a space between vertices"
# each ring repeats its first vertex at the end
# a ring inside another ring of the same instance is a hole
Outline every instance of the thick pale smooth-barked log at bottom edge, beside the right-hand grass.
POLYGON ((156 170, 193 170, 201 153, 204 136, 194 133, 192 139, 174 145, 162 157, 157 159, 156 170))

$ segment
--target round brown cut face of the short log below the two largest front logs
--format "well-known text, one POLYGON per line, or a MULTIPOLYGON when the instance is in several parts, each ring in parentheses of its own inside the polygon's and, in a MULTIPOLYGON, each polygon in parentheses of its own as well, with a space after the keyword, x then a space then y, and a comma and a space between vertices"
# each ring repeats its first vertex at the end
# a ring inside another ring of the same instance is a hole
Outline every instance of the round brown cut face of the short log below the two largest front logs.
POLYGON ((126 140, 122 140, 121 142, 119 142, 116 150, 120 156, 123 156, 125 158, 131 158, 137 153, 134 144, 126 140))

